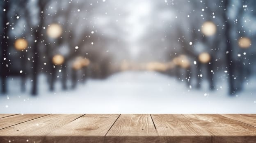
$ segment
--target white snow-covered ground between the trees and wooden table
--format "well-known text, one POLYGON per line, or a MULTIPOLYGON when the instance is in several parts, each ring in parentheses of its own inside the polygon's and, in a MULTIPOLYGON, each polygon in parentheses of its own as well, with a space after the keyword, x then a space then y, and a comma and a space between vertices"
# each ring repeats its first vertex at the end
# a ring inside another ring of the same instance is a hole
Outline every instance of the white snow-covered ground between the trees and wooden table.
POLYGON ((189 89, 174 77, 149 71, 90 79, 66 91, 57 83, 56 91, 48 92, 44 76, 39 81, 39 95, 33 97, 20 92, 18 79, 9 79, 9 93, 0 96, 0 113, 256 113, 256 79, 233 97, 227 95, 226 82, 217 83, 215 91, 189 89))

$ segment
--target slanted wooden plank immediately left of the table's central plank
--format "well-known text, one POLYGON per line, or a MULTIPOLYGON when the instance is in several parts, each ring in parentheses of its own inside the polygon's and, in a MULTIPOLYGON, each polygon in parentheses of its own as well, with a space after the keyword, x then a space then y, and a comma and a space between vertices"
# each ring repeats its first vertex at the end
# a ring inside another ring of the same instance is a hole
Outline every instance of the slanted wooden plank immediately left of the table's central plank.
POLYGON ((86 114, 46 137, 47 143, 103 143, 119 114, 86 114))

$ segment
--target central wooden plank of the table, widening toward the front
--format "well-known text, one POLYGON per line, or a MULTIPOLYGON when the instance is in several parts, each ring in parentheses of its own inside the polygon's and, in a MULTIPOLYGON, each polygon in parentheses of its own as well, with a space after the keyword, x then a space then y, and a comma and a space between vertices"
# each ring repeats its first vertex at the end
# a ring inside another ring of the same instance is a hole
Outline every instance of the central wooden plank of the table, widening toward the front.
POLYGON ((107 143, 157 143, 158 133, 149 114, 121 114, 107 133, 107 143))

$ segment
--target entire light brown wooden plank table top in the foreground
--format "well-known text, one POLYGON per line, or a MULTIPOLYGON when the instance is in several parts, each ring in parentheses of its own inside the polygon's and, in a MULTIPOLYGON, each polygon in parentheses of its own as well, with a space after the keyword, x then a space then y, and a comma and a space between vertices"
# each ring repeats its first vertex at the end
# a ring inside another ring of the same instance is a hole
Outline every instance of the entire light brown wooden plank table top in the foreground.
POLYGON ((0 114, 0 143, 256 143, 256 114, 0 114))

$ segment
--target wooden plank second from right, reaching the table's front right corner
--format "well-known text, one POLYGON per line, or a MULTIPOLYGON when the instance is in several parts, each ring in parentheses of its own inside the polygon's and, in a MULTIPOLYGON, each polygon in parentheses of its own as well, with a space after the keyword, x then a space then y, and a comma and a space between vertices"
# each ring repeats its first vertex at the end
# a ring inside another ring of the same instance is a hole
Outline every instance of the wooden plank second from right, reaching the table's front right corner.
POLYGON ((256 128, 217 114, 184 114, 212 135, 213 143, 255 143, 256 128))

